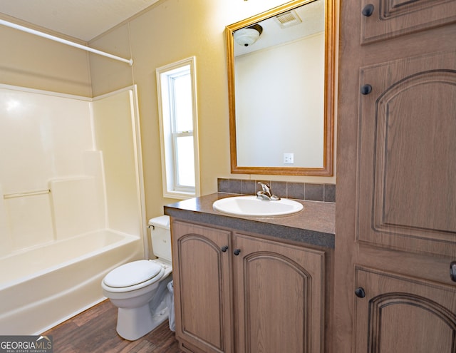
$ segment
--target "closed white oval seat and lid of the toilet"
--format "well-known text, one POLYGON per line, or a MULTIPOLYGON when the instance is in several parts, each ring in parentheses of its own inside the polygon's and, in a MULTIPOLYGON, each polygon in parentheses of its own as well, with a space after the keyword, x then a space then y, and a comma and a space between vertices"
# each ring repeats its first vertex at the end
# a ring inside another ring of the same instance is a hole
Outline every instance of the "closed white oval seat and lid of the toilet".
POLYGON ((150 260, 138 260, 121 265, 103 278, 103 287, 109 292, 130 292, 159 281, 165 269, 150 260))

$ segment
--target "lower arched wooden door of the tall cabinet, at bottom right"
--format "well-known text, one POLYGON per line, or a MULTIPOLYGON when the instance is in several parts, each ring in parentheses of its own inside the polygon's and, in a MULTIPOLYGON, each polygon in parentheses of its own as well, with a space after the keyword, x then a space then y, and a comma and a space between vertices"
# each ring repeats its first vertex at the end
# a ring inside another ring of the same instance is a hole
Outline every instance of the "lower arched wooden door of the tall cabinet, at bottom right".
POLYGON ((455 352, 455 287, 361 267, 356 286, 356 352, 455 352))

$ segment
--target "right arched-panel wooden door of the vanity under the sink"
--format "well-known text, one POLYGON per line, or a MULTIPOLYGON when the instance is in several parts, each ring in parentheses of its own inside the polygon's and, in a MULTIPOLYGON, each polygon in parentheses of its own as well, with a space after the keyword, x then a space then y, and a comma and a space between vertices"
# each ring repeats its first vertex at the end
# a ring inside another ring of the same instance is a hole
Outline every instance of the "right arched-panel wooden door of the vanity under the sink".
POLYGON ((324 252, 235 235, 237 352, 323 352, 324 252))

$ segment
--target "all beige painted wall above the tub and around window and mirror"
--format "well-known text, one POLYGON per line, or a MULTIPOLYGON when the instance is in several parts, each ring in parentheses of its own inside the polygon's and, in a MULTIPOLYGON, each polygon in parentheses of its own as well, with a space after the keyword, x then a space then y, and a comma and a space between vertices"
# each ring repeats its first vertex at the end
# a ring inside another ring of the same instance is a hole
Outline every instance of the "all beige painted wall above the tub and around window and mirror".
POLYGON ((217 191, 217 178, 335 183, 335 177, 230 173, 224 28, 286 2, 160 0, 90 42, 94 48, 133 57, 131 67, 0 26, 0 82, 81 96, 100 96, 137 84, 147 218, 162 214, 162 205, 175 201, 162 197, 155 69, 190 56, 197 58, 202 195, 217 191))

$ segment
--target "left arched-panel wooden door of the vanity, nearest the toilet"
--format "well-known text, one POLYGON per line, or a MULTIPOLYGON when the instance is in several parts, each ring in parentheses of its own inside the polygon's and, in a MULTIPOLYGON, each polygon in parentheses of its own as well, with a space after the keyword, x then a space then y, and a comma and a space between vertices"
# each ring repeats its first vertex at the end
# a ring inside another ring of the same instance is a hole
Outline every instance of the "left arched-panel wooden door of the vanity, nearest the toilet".
POLYGON ((176 337, 190 352, 232 352, 230 234, 172 222, 176 337))

